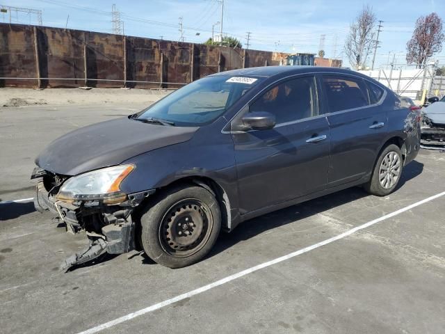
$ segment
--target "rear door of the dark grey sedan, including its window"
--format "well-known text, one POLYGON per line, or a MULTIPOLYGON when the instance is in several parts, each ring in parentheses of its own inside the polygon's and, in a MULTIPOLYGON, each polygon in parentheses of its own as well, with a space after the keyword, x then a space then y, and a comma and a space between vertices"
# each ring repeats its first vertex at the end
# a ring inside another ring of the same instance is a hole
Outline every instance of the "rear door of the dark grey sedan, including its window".
POLYGON ((387 132, 387 112, 380 105, 384 91, 347 74, 320 79, 331 137, 328 186, 366 178, 387 132))

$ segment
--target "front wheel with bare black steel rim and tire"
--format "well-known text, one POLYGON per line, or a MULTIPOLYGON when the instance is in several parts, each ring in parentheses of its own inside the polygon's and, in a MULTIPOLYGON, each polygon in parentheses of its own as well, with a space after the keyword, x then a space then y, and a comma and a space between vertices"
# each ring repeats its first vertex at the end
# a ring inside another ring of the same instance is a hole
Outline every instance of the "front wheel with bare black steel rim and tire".
POLYGON ((145 253, 169 268, 200 261, 218 239, 221 213, 212 193, 200 186, 177 186, 161 193, 140 216, 145 253))

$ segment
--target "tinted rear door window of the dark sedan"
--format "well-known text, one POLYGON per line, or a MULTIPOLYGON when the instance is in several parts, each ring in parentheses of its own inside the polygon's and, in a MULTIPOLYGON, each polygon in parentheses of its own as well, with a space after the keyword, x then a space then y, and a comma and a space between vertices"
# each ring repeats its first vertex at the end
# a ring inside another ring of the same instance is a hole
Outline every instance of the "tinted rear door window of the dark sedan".
POLYGON ((330 113, 369 105, 368 90, 362 79, 323 77, 330 113))

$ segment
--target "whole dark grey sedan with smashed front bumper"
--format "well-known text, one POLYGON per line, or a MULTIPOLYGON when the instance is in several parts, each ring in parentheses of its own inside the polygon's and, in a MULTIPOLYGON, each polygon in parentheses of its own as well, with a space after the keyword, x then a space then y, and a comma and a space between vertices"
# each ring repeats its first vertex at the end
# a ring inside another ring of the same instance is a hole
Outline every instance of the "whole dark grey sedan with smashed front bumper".
POLYGON ((184 267, 255 216, 351 186, 388 195, 419 136, 418 114, 357 72, 221 72, 56 139, 35 160, 35 207, 90 239, 65 269, 138 246, 184 267))

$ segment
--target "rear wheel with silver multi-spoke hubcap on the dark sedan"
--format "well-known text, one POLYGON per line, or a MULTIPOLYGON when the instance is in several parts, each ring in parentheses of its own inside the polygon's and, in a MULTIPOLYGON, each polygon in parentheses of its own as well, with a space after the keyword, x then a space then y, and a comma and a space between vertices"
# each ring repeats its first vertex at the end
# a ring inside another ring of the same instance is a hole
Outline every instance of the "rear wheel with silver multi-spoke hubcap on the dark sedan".
POLYGON ((371 180, 364 184, 364 189, 375 196, 387 196, 396 189, 401 180, 402 171, 401 149, 397 145, 390 144, 380 153, 371 180), (385 170, 389 170, 389 173, 385 170))

